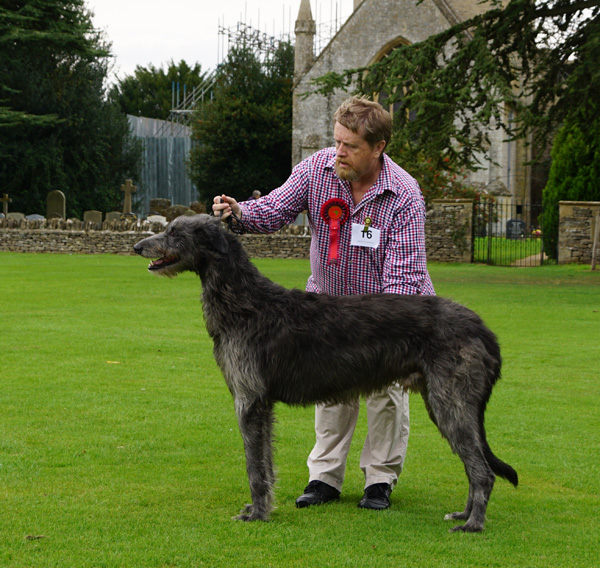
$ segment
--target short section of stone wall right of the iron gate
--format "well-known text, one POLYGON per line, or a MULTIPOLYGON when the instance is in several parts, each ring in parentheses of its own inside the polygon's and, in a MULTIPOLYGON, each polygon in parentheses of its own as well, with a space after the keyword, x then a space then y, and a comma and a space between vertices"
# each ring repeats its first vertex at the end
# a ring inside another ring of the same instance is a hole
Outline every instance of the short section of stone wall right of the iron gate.
POLYGON ((558 263, 591 264, 600 201, 559 203, 558 263))

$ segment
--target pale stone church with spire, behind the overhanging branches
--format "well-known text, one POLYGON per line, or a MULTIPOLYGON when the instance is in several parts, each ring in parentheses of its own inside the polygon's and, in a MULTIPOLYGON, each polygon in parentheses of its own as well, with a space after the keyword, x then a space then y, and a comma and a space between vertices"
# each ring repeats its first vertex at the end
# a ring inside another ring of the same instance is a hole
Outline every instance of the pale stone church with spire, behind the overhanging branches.
MULTIPOLYGON (((311 80, 328 72, 375 63, 391 50, 420 42, 448 27, 469 19, 489 5, 479 0, 354 0, 354 9, 327 46, 314 53, 316 24, 310 0, 301 0, 296 20, 295 95, 311 91, 311 80)), ((346 92, 327 97, 294 96, 292 161, 297 164, 316 150, 333 145, 332 117, 346 92)), ((506 109, 506 120, 514 120, 506 109)), ((491 160, 474 172, 470 181, 504 199, 530 202, 531 171, 528 146, 505 142, 501 130, 490 132, 491 160)), ((402 164, 400 164, 402 165, 402 164)))

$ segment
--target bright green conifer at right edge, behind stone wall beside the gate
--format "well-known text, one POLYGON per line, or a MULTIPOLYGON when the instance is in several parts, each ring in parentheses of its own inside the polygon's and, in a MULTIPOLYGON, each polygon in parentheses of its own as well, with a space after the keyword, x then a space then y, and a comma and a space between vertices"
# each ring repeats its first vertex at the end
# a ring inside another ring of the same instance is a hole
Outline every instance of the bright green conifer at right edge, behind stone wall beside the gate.
POLYGON ((579 110, 558 131, 543 200, 544 250, 550 258, 556 259, 558 202, 600 201, 600 118, 597 112, 579 110))

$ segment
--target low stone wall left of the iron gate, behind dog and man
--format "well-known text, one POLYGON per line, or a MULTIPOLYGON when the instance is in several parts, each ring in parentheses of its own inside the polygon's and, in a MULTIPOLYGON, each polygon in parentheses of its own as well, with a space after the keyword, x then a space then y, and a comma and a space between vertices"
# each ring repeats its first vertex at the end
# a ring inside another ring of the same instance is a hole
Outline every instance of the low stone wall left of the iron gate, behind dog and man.
MULTIPOLYGON (((469 200, 437 200, 427 213, 426 245, 429 260, 471 261, 469 200)), ((0 251, 64 254, 134 254, 133 245, 161 232, 160 223, 119 221, 84 223, 52 219, 27 221, 0 219, 0 251)), ((308 258, 307 227, 290 225, 274 235, 242 235, 253 258, 308 258)))

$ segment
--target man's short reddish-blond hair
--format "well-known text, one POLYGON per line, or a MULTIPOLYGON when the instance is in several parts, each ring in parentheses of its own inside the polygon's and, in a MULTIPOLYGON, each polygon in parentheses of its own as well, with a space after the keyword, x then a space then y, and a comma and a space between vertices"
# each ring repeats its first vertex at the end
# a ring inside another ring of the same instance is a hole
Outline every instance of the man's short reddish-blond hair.
POLYGON ((339 122, 355 134, 360 134, 371 147, 385 141, 387 146, 392 137, 392 117, 379 103, 365 97, 346 99, 333 115, 339 122))

